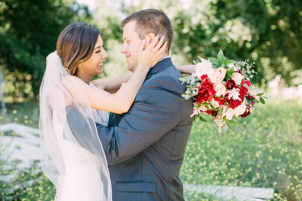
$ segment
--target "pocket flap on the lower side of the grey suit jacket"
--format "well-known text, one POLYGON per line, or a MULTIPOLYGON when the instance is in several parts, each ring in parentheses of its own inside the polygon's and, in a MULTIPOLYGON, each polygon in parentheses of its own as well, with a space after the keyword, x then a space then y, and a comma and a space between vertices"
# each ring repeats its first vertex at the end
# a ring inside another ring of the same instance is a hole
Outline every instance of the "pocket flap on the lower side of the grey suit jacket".
POLYGON ((156 182, 147 181, 121 181, 116 182, 118 192, 149 192, 156 191, 156 182))

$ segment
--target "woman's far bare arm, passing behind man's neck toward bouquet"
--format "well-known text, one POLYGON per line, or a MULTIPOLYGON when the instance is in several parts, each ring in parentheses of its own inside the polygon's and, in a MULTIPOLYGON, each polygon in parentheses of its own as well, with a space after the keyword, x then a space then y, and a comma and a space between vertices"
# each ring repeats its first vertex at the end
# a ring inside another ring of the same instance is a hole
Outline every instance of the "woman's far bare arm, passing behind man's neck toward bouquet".
MULTIPOLYGON (((175 66, 181 73, 192 74, 195 72, 196 65, 186 65, 186 66, 175 66)), ((128 82, 128 80, 133 76, 133 73, 121 75, 117 78, 101 78, 91 81, 91 83, 99 89, 105 90, 109 93, 113 93, 119 90, 122 83, 128 82)))

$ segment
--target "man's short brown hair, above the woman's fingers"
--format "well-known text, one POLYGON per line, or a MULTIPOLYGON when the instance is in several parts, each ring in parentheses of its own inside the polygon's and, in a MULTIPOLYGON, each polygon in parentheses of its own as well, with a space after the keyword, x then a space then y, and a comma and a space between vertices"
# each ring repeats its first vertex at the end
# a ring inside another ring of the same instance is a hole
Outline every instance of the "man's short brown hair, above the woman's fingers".
POLYGON ((136 22, 135 32, 137 32, 139 39, 141 40, 143 40, 143 38, 145 38, 145 36, 149 33, 154 33, 155 35, 159 35, 159 37, 164 35, 165 41, 167 41, 166 53, 169 54, 174 31, 171 21, 164 11, 157 9, 138 11, 126 17, 120 23, 120 26, 124 27, 128 22, 131 21, 136 22))

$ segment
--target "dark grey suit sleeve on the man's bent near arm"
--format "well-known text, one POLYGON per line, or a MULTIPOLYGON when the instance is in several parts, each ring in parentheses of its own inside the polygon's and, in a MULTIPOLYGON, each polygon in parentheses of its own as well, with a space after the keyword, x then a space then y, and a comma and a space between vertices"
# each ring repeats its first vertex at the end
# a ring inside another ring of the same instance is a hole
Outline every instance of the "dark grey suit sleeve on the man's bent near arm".
POLYGON ((184 99, 176 82, 169 76, 150 80, 117 126, 108 128, 97 123, 108 164, 134 157, 178 124, 184 99))

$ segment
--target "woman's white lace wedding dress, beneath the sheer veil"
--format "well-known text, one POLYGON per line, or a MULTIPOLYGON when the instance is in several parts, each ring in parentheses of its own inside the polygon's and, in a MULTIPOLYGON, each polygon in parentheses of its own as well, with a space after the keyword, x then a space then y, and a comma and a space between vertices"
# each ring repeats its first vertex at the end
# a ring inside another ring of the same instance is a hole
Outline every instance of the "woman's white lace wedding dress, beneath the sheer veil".
MULTIPOLYGON (((88 108, 81 107, 81 109, 85 114, 90 112, 88 108)), ((95 122, 108 125, 108 112, 93 108, 91 110, 95 122)), ((59 177, 58 183, 62 186, 57 186, 55 201, 106 201, 104 192, 101 190, 103 183, 100 159, 68 140, 60 139, 59 144, 65 162, 65 174, 59 177)))

